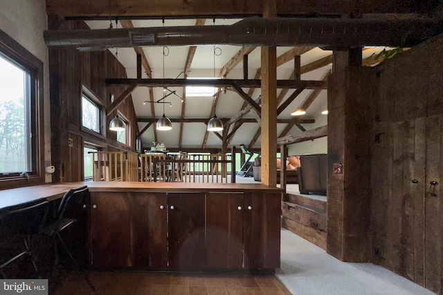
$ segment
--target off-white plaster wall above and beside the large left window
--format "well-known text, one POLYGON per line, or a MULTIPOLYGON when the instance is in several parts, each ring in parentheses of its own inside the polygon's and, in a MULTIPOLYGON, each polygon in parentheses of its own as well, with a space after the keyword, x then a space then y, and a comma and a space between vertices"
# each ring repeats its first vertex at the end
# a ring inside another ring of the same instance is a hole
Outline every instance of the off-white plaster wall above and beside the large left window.
MULTIPOLYGON (((1 0, 0 29, 15 39, 44 64, 44 159, 51 163, 51 120, 49 105, 48 48, 44 44, 43 31, 48 28, 44 0, 1 0)), ((46 182, 51 182, 46 174, 46 182)))

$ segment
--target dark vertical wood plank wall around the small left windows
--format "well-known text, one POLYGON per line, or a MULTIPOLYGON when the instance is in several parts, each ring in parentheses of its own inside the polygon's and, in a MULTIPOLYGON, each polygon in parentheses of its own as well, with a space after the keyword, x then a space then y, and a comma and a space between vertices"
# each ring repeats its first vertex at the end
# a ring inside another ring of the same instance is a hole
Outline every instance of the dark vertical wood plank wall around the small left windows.
MULTIPOLYGON (((62 21, 48 17, 50 30, 87 29, 83 21, 62 21)), ((116 111, 102 121, 103 135, 95 135, 82 129, 81 99, 82 85, 86 86, 100 100, 105 109, 111 104, 110 96, 118 97, 123 87, 105 86, 107 77, 127 77, 125 68, 109 50, 82 52, 63 49, 49 50, 49 71, 51 87, 51 157, 55 165, 53 182, 83 180, 83 143, 85 141, 100 146, 104 151, 109 147, 116 150, 135 150, 135 137, 138 131, 132 97, 118 106, 118 111, 128 120, 131 138, 129 145, 116 142, 116 133, 108 131, 109 122, 116 111), (69 139, 73 146, 69 146, 69 139)))

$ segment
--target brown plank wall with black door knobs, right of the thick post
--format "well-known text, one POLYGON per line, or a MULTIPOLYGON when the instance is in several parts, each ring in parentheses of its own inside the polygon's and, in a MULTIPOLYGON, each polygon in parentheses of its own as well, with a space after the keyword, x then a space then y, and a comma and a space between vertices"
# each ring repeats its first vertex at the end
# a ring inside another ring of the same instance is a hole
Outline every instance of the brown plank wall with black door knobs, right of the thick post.
POLYGON ((443 38, 373 70, 373 262, 442 294, 443 38), (436 181, 437 185, 431 185, 436 181))

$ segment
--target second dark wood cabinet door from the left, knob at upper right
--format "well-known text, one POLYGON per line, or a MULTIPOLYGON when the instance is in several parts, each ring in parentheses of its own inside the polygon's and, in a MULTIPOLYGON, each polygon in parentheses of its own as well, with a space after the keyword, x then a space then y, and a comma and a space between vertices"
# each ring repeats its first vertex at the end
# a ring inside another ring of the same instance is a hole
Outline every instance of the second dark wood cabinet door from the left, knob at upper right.
POLYGON ((131 193, 132 266, 168 267, 166 193, 131 193))

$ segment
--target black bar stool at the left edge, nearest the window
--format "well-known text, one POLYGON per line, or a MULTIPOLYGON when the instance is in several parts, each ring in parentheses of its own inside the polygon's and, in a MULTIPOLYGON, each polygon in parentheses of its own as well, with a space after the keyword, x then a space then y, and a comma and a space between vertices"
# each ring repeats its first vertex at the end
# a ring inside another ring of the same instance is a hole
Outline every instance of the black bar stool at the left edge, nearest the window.
POLYGON ((46 220, 49 202, 35 200, 15 206, 10 206, 0 211, 0 236, 3 240, 12 240, 12 236, 19 235, 24 239, 23 247, 15 249, 1 249, 0 274, 7 278, 3 268, 11 265, 21 256, 28 255, 37 277, 39 269, 35 261, 35 245, 39 245, 40 233, 46 220))

